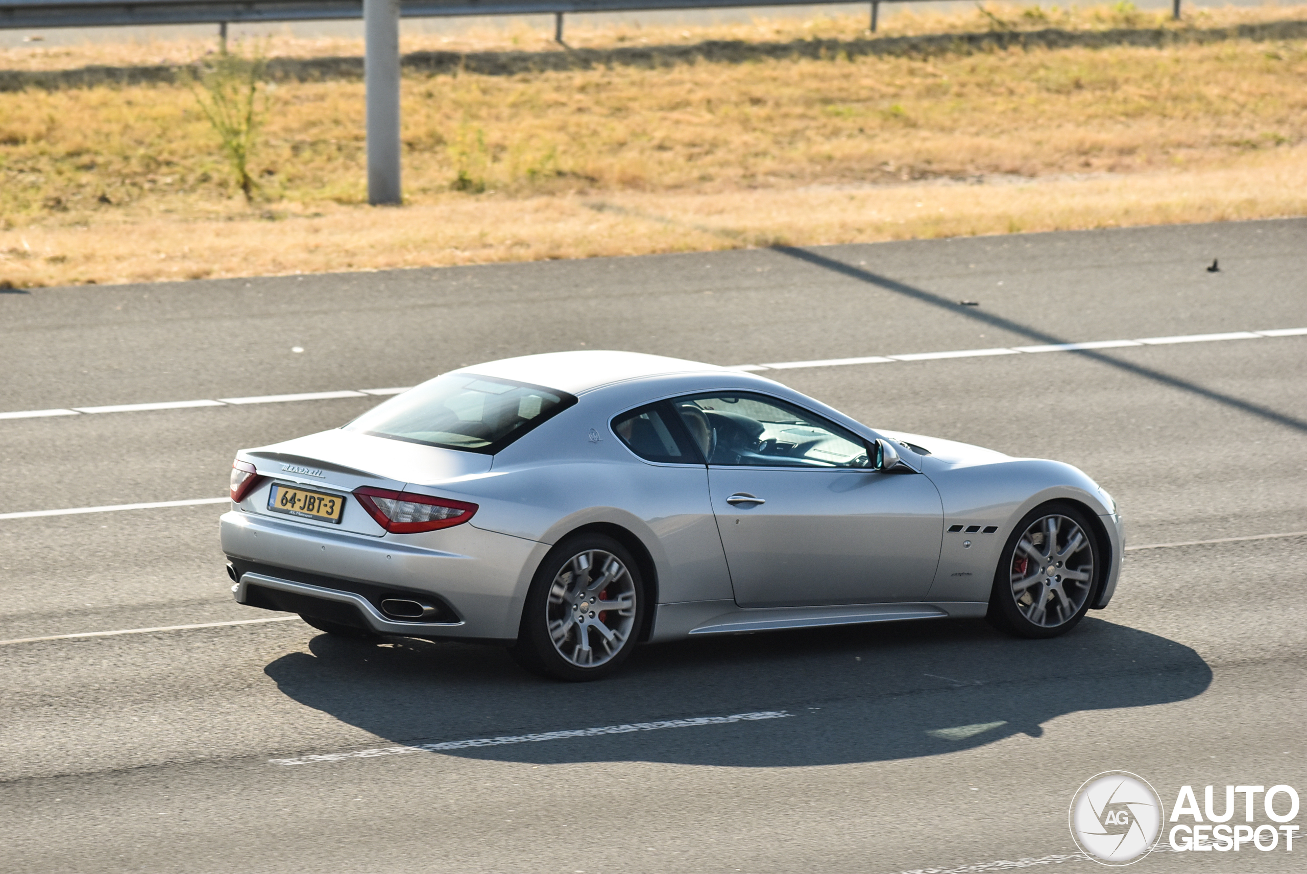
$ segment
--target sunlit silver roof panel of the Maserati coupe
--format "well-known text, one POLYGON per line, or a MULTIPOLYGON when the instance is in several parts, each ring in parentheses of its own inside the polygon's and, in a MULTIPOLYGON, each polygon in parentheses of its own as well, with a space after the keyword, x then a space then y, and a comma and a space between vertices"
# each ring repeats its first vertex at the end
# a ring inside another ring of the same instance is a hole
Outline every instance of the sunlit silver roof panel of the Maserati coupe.
POLYGON ((642 352, 583 349, 486 361, 485 364, 461 368, 455 373, 474 373, 484 377, 529 382, 546 389, 558 389, 579 395, 601 386, 630 379, 724 372, 731 372, 731 368, 703 364, 702 361, 668 358, 661 355, 644 355, 642 352))

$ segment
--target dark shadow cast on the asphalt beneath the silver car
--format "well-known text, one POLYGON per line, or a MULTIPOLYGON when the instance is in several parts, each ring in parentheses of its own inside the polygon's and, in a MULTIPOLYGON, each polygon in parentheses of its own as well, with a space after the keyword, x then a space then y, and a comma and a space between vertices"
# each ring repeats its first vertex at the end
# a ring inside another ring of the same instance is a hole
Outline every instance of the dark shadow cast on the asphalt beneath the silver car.
POLYGON ((771 713, 440 751, 728 767, 880 761, 1039 738, 1057 717, 1183 701, 1212 683, 1193 649, 1100 619, 1044 641, 980 621, 689 640, 644 646, 614 678, 584 684, 532 676, 491 646, 320 635, 308 653, 282 656, 265 673, 290 699, 386 744, 771 713))

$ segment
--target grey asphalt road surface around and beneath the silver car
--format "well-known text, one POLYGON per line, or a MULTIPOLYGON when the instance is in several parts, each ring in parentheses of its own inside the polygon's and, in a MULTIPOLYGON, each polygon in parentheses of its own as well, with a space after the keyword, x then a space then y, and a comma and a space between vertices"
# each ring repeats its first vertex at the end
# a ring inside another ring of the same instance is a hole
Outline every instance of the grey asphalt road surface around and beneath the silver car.
MULTIPOLYGON (((0 294, 0 411, 572 348, 735 365, 1297 327, 1307 221, 38 289, 0 294)), ((1307 530, 1307 336, 766 374, 874 427, 1074 463, 1134 547, 1307 530)), ((217 497, 238 447, 376 400, 0 419, 0 514, 217 497)), ((0 641, 274 618, 231 601, 223 509, 0 519, 0 641)), ((1052 641, 753 635, 646 646, 587 686, 298 619, 7 642, 0 870, 1093 870, 1067 810, 1098 772, 1167 810, 1185 784, 1307 794, 1304 608, 1307 536, 1281 536, 1134 550, 1111 606, 1052 641), (627 730, 578 731, 606 726, 627 730)), ((1303 841, 1133 870, 1300 871, 1303 841)))

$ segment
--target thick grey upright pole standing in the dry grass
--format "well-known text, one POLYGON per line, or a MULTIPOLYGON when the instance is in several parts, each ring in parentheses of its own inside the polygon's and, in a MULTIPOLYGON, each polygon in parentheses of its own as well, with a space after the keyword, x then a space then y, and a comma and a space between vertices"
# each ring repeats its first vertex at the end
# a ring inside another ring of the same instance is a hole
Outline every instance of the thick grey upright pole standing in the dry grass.
POLYGON ((400 0, 363 0, 367 203, 400 204, 400 0))

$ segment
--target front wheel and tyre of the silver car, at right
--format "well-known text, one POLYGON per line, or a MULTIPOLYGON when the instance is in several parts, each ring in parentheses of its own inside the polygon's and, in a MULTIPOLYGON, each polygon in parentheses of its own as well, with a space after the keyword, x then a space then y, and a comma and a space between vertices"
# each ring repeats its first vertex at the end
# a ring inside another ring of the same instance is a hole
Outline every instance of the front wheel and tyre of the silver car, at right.
POLYGON ((1086 513, 1061 501, 1042 504, 1022 517, 1002 547, 987 619, 1017 637, 1065 635, 1085 618, 1104 569, 1098 536, 1086 513), (1048 519, 1055 521, 1052 527, 1048 519), (1080 547, 1076 547, 1077 534, 1080 547), (1067 552, 1072 547, 1076 548, 1067 552), (1031 567, 1035 559, 1039 560, 1031 567))

